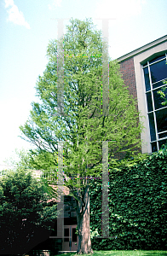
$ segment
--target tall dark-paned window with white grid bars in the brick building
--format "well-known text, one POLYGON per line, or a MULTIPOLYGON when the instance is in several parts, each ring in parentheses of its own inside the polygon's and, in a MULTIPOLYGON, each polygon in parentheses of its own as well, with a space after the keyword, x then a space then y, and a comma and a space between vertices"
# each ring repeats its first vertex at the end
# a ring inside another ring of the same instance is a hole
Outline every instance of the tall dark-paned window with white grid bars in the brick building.
MULTIPOLYGON (((146 97, 147 114, 150 126, 150 138, 152 152, 158 151, 163 144, 167 143, 167 106, 161 103, 164 99, 157 93, 165 86, 167 80, 167 53, 159 55, 143 65, 146 97)), ((164 91, 167 98, 167 89, 164 91)))

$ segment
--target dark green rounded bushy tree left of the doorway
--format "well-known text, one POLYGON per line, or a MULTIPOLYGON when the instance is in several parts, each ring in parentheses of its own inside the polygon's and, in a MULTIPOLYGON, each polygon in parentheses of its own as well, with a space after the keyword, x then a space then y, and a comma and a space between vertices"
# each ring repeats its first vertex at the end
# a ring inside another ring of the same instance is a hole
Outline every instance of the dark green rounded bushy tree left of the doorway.
POLYGON ((1 253, 26 253, 37 234, 49 234, 57 217, 57 207, 49 199, 30 171, 17 169, 0 177, 1 253))

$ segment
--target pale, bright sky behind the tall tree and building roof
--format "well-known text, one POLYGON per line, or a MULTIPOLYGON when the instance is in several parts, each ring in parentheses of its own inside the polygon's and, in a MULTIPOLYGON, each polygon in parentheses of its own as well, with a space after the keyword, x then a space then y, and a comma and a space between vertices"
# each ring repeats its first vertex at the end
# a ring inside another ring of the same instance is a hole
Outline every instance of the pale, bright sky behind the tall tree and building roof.
POLYGON ((112 59, 167 34, 167 0, 0 0, 0 170, 16 158, 15 148, 32 148, 19 136, 37 102, 35 85, 47 65, 57 19, 92 18, 98 29, 108 21, 112 59))

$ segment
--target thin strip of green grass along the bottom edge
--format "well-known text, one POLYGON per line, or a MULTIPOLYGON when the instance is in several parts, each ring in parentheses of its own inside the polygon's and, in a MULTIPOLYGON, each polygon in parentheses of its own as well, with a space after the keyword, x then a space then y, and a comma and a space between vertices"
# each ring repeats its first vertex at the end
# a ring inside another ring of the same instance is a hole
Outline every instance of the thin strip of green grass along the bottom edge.
MULTIPOLYGON (((76 253, 61 253, 58 254, 66 256, 78 255, 76 253)), ((112 255, 112 256, 167 256, 167 251, 143 251, 143 250, 133 250, 133 251, 94 251, 94 254, 85 254, 92 256, 102 256, 102 255, 112 255)), ((57 256, 57 255, 55 255, 57 256)))

